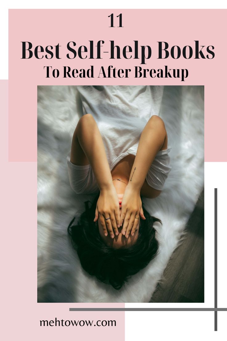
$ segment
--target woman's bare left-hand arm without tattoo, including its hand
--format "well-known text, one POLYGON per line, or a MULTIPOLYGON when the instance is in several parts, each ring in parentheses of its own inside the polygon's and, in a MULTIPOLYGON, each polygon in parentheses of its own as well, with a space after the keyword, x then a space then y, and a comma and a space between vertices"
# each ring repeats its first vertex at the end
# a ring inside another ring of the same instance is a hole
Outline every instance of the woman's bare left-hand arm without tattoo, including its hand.
POLYGON ((94 221, 100 218, 104 235, 107 228, 114 238, 120 227, 119 202, 113 186, 106 151, 98 126, 92 115, 82 116, 72 138, 70 161, 76 165, 90 164, 100 189, 94 221), (109 218, 106 220, 104 218, 109 218), (113 231, 114 230, 114 231, 113 231))

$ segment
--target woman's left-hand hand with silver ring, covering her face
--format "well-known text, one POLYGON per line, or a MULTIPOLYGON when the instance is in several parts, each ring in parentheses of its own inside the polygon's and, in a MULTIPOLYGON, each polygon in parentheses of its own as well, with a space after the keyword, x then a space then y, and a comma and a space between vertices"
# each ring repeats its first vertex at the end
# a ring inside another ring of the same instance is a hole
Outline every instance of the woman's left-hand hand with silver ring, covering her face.
POLYGON ((108 236, 108 231, 111 238, 114 238, 114 234, 116 236, 119 234, 120 208, 117 193, 113 185, 100 191, 94 221, 97 221, 98 218, 100 219, 104 236, 108 236), (105 218, 110 219, 105 220, 105 218))

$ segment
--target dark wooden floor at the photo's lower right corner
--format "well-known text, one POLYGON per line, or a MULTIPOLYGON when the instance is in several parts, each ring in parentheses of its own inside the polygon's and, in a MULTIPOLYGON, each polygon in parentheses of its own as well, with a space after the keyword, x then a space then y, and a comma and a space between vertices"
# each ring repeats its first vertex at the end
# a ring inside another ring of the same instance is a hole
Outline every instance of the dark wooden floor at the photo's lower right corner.
POLYGON ((150 302, 204 302, 204 191, 150 302))

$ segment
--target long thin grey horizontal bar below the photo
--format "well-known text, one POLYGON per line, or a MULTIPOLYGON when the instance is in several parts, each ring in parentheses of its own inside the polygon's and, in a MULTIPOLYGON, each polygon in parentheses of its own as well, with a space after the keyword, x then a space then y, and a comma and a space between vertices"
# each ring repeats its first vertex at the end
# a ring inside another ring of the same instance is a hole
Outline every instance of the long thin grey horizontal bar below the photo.
POLYGON ((227 311, 227 308, 69 308, 69 311, 227 311))

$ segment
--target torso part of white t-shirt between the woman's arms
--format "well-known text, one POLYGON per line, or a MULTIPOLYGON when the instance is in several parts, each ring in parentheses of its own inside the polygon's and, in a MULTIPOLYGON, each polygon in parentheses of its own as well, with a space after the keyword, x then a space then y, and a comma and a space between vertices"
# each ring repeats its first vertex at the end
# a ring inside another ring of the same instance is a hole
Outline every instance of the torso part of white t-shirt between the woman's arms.
POLYGON ((163 86, 78 86, 83 114, 92 114, 106 149, 110 170, 136 154, 140 135, 159 115, 163 86))

